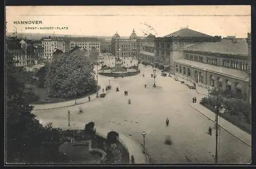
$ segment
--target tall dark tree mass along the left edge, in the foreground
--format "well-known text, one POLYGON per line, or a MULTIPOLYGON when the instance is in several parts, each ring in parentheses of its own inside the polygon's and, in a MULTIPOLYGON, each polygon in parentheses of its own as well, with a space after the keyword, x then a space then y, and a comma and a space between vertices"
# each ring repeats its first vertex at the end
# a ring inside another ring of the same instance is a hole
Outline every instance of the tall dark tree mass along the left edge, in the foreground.
POLYGON ((6 162, 35 162, 46 129, 31 113, 23 70, 14 65, 14 56, 6 51, 6 162))

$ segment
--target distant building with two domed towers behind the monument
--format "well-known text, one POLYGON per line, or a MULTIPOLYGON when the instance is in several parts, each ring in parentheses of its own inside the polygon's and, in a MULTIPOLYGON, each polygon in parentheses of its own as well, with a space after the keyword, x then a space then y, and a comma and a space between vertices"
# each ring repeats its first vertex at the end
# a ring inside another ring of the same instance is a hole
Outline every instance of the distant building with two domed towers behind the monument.
POLYGON ((121 38, 117 33, 111 39, 111 53, 116 57, 137 57, 139 54, 140 38, 135 31, 130 38, 121 38))

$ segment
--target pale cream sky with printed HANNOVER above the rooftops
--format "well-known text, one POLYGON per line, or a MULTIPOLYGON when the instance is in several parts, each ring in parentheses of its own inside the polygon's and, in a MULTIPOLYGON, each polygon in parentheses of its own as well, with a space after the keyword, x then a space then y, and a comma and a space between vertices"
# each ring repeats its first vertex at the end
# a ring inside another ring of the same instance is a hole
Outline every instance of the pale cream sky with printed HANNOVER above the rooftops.
POLYGON ((251 32, 250 6, 7 6, 7 32, 68 35, 157 37, 181 27, 211 36, 247 37, 251 32), (14 21, 38 20, 41 25, 14 25, 14 21), (36 30, 26 30, 36 27, 36 30), (60 29, 40 30, 40 27, 60 29), (63 28, 62 27, 68 27, 63 28), (153 29, 152 29, 153 28, 153 29), (143 33, 144 32, 144 33, 143 33))

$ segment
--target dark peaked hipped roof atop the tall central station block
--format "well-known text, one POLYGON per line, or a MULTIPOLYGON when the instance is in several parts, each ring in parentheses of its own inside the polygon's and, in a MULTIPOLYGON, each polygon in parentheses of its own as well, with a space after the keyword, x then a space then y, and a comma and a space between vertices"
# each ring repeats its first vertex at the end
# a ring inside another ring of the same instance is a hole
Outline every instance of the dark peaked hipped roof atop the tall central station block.
POLYGON ((172 36, 179 36, 179 37, 212 37, 210 35, 206 35, 204 33, 200 33, 191 29, 180 29, 179 31, 176 31, 174 33, 165 35, 164 37, 172 37, 172 36))

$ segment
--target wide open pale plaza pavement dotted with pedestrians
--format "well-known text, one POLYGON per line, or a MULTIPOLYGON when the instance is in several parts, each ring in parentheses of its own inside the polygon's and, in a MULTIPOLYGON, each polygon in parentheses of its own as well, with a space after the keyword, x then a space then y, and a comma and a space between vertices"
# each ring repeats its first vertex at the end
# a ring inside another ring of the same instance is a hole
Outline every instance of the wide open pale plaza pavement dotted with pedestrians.
MULTIPOLYGON (((106 98, 33 113, 42 122, 59 126, 68 124, 67 111, 70 109, 71 125, 93 121, 102 128, 125 132, 140 144, 143 144, 141 133, 145 131, 145 149, 153 163, 214 163, 215 131, 212 136, 207 134, 208 127, 213 127, 214 122, 189 106, 193 96, 200 98, 202 95, 173 78, 161 77, 160 70, 157 70, 157 87, 153 88, 152 67, 140 65, 140 70, 137 77, 99 77, 102 84, 108 85, 111 80, 112 88, 120 89, 120 92, 112 89, 106 98), (128 96, 124 96, 124 90, 129 92, 128 96), (129 99, 131 105, 127 104, 129 99), (78 113, 79 107, 84 113, 78 113), (166 117, 170 120, 169 127, 165 127, 166 117), (170 136, 172 145, 164 144, 166 136, 170 136)), ((219 135, 220 163, 250 162, 249 146, 222 128, 219 135)))

